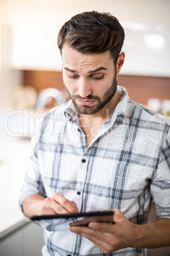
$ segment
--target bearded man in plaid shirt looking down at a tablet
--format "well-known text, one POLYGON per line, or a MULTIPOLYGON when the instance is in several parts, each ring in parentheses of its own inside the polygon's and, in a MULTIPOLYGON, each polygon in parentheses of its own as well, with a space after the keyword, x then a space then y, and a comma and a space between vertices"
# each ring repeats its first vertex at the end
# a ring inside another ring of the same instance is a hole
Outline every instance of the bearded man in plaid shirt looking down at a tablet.
POLYGON ((44 229, 43 255, 146 255, 170 245, 169 125, 117 86, 123 42, 118 20, 96 11, 75 15, 58 34, 72 99, 42 120, 22 210, 27 217, 114 210, 114 217, 44 229), (147 224, 152 201, 158 219, 147 224))

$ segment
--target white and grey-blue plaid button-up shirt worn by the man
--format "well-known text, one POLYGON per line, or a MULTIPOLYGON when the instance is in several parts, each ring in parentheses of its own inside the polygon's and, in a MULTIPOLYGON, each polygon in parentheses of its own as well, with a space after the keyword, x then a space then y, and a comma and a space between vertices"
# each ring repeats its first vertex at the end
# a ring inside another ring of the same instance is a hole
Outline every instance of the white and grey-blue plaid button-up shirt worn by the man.
MULTIPOLYGON (((170 218, 169 120, 147 110, 117 87, 121 100, 112 118, 86 146, 72 101, 42 120, 20 204, 30 194, 55 192, 79 211, 119 209, 134 224, 146 224, 150 204, 157 217, 170 218)), ((43 255, 105 255, 91 241, 70 231, 47 231, 43 255)), ((109 255, 146 255, 125 248, 109 255)))

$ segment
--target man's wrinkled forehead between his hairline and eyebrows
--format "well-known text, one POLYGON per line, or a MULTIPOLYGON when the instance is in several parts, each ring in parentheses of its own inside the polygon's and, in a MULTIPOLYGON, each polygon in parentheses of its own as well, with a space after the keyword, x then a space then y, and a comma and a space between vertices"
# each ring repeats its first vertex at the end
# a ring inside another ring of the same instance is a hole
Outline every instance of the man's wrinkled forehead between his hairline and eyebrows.
POLYGON ((77 52, 66 44, 62 48, 62 61, 63 68, 76 71, 91 71, 101 66, 108 68, 108 66, 114 65, 110 52, 86 54, 77 52))

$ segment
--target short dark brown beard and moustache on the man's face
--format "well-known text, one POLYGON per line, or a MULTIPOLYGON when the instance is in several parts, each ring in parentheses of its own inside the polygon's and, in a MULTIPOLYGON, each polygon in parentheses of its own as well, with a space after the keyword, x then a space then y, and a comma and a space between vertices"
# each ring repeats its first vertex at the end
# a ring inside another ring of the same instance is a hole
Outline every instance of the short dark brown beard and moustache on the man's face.
MULTIPOLYGON (((66 86, 65 86, 66 87, 66 86)), ((67 87, 66 87, 67 89, 67 87)), ((93 115, 100 111, 104 106, 114 97, 115 92, 117 90, 117 79, 116 79, 116 74, 114 75, 114 78, 112 80, 111 86, 108 88, 108 90, 103 94, 103 96, 98 97, 98 96, 92 96, 89 95, 87 97, 81 97, 79 95, 70 95, 69 90, 69 96, 72 99, 72 102, 74 103, 75 109, 78 111, 79 114, 83 115, 93 115), (79 105, 76 103, 77 100, 87 100, 87 101, 96 101, 95 106, 84 106, 84 105, 79 105)))

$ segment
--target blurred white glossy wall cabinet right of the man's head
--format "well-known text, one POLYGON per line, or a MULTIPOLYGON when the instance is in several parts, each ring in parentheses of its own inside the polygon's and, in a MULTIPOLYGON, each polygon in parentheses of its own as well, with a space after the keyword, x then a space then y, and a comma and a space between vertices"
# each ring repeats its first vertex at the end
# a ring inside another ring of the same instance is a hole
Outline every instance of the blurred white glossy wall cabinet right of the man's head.
POLYGON ((121 22, 126 53, 121 74, 170 76, 170 26, 121 22))

